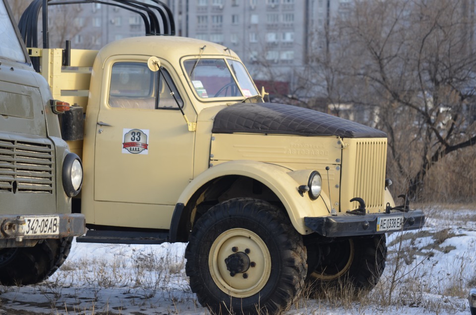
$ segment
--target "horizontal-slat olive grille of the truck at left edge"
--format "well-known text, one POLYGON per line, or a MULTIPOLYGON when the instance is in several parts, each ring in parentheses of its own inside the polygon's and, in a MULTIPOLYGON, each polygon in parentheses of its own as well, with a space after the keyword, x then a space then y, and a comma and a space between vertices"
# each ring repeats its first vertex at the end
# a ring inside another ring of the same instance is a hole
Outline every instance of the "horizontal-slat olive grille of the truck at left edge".
POLYGON ((0 139, 0 191, 53 194, 51 145, 0 139))

